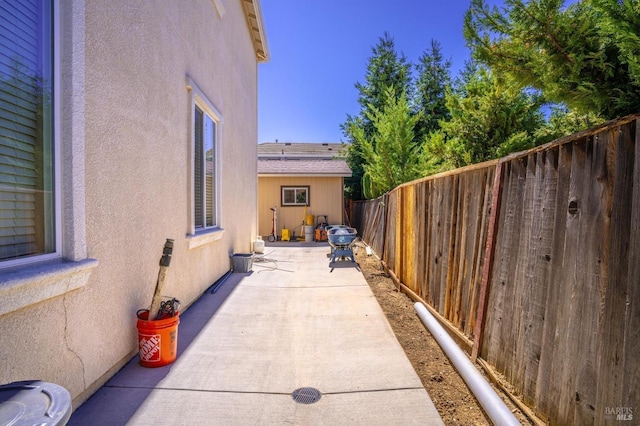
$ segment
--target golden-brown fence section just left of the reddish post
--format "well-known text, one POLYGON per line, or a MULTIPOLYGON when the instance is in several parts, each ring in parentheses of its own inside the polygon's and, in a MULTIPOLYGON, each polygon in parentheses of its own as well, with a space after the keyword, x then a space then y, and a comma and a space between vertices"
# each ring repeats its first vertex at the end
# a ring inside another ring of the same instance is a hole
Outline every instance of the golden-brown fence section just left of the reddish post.
POLYGON ((388 194, 394 201, 386 230, 394 238, 387 237, 383 259, 398 279, 469 337, 496 163, 412 182, 388 194))

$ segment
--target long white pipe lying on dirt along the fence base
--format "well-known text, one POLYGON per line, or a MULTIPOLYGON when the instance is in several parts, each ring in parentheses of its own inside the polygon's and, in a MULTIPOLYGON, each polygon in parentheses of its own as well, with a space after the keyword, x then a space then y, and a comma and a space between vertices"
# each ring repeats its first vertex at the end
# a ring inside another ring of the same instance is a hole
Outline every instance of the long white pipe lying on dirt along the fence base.
POLYGON ((418 316, 427 327, 429 332, 436 339, 442 350, 447 354, 453 365, 456 367, 464 381, 476 396, 482 408, 489 415, 489 418, 495 425, 520 425, 520 422, 513 415, 509 407, 495 393, 491 385, 482 377, 482 374, 469 361, 469 358, 458 347, 456 342, 442 328, 438 320, 425 308, 425 306, 416 302, 415 308, 418 316))

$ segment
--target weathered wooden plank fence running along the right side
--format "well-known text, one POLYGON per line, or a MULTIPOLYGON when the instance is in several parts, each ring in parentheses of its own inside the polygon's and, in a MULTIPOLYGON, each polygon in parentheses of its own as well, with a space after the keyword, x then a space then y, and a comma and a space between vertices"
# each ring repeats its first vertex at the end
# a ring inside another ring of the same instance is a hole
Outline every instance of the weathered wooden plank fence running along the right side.
POLYGON ((551 424, 640 417, 639 123, 351 204, 397 280, 551 424))

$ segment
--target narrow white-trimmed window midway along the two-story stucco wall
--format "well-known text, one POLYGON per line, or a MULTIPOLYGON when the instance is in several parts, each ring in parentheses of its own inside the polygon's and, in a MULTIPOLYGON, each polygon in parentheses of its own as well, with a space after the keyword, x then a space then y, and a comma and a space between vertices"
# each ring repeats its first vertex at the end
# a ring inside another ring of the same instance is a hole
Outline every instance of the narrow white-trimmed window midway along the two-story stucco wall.
POLYGON ((218 110, 189 80, 193 98, 192 234, 220 228, 220 126, 218 110))

